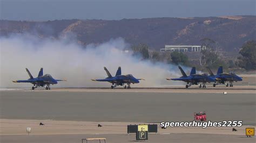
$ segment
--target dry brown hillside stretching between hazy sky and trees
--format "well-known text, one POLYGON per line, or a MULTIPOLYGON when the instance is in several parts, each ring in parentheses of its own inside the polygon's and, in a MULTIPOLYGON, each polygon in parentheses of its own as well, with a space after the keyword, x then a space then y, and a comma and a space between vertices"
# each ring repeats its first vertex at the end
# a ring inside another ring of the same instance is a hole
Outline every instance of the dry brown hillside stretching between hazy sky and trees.
POLYGON ((122 37, 130 44, 145 43, 159 49, 166 44, 200 45, 200 39, 210 38, 217 41, 223 51, 238 53, 245 41, 256 39, 256 16, 47 22, 0 20, 0 24, 2 36, 26 32, 42 38, 59 38, 73 33, 85 45, 122 37))

